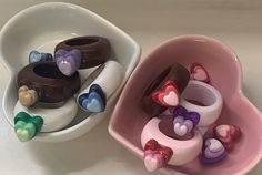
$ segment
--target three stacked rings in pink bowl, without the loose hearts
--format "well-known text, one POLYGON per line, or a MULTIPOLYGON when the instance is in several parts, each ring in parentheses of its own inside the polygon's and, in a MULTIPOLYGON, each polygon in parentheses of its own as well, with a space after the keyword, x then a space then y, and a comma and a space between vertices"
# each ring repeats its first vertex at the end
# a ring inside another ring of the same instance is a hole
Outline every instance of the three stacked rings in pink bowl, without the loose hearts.
POLYGON ((189 71, 174 63, 145 90, 141 107, 151 120, 142 130, 141 144, 150 172, 167 164, 184 165, 198 157, 203 146, 198 128, 209 127, 221 114, 220 92, 205 82, 189 79, 189 71), (168 107, 172 114, 161 116, 168 107))

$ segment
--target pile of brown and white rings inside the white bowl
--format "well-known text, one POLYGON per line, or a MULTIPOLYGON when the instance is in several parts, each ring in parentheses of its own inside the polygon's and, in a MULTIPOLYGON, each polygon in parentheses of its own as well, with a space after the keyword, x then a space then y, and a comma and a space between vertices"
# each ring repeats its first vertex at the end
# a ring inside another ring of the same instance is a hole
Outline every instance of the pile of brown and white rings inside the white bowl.
POLYGON ((78 109, 101 113, 124 78, 123 66, 111 60, 108 39, 97 35, 61 41, 54 54, 31 51, 29 64, 17 75, 14 131, 21 142, 40 132, 69 125, 78 109), (90 69, 94 71, 90 74, 90 69))

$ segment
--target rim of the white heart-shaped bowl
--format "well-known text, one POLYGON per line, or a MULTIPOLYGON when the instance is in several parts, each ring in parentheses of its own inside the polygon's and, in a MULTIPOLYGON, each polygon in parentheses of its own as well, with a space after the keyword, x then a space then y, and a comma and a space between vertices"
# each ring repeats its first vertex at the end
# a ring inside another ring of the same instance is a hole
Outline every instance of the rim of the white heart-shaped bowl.
MULTIPOLYGON (((110 27, 112 30, 114 30, 117 33, 119 33, 120 35, 122 35, 125 40, 128 40, 131 45, 133 47, 133 54, 130 58, 130 62, 129 65, 127 66, 127 69, 124 69, 124 79, 122 81, 122 84, 119 86, 119 89, 115 91, 115 93, 113 95, 111 95, 108 100, 108 104, 112 105, 112 102, 115 100, 115 97, 118 96, 118 94, 121 92, 123 85, 125 84, 127 80, 129 79, 129 76, 131 75, 132 71, 134 70, 134 68, 137 66, 137 64, 139 63, 140 60, 140 55, 141 55, 141 48, 140 45, 130 37, 124 31, 122 31, 121 29, 119 29, 118 27, 115 27, 113 23, 111 23, 110 21, 108 21, 107 19, 100 17, 99 14, 92 12, 89 9, 85 9, 81 6, 78 4, 73 4, 73 3, 68 3, 68 2, 44 2, 44 3, 39 3, 39 4, 34 4, 31 6, 29 8, 26 8, 21 11, 19 11, 18 13, 16 13, 12 18, 10 18, 7 23, 2 27, 2 29, 0 30, 0 50, 2 50, 2 42, 3 42, 3 37, 6 35, 6 33, 8 32, 8 30, 12 27, 13 23, 16 23, 17 21, 19 21, 22 17, 27 16, 27 14, 32 14, 33 12, 38 12, 39 9, 44 9, 44 8, 70 8, 70 9, 77 9, 81 12, 84 12, 87 16, 90 16, 94 19, 97 19, 98 21, 101 21, 102 23, 104 23, 105 25, 110 27)), ((16 70, 12 70, 12 68, 10 66, 10 64, 6 61, 6 59, 2 55, 2 52, 0 52, 0 63, 4 66, 4 69, 8 71, 9 74, 9 79, 8 79, 8 83, 6 85, 4 89, 4 93, 3 93, 3 97, 2 97, 2 110, 3 110, 3 115, 6 117, 6 120, 8 121, 8 123, 13 127, 12 122, 9 120, 8 117, 8 110, 6 106, 8 106, 7 102, 8 102, 8 91, 9 87, 11 85, 11 83, 13 82, 14 78, 14 72, 16 70)), ((108 111, 110 111, 111 105, 109 105, 108 111)), ((90 120, 93 120, 93 117, 97 117, 97 122, 94 122, 97 125, 102 119, 105 117, 107 112, 105 113, 101 113, 101 114, 91 114, 89 115, 87 119, 84 119, 83 121, 67 127, 64 130, 60 130, 57 132, 51 132, 51 133, 40 133, 39 135, 37 135, 33 141, 43 141, 43 142, 64 142, 64 141, 69 141, 69 140, 74 140, 83 134, 85 134, 87 132, 81 132, 81 134, 77 134, 79 136, 71 136, 72 138, 67 138, 67 134, 70 133, 74 133, 75 131, 78 131, 79 128, 88 125, 88 123, 90 123, 90 120), (95 116, 97 115, 97 116, 95 116), (57 138, 57 141, 56 141, 57 138)), ((94 119, 95 121, 95 119, 94 119)), ((89 130, 91 130, 93 126, 90 126, 89 130)), ((88 128, 87 128, 88 130, 88 128)), ((89 131, 88 130, 88 131, 89 131)), ((73 135, 73 134, 72 134, 73 135)))

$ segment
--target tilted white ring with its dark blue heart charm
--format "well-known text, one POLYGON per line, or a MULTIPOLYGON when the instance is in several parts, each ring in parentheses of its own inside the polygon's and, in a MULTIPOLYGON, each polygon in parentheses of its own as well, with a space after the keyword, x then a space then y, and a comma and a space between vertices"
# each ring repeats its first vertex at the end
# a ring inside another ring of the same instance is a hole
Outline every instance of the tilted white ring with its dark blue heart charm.
POLYGON ((108 61, 89 75, 77 97, 79 106, 93 113, 105 110, 109 99, 122 83, 124 71, 120 63, 108 61))

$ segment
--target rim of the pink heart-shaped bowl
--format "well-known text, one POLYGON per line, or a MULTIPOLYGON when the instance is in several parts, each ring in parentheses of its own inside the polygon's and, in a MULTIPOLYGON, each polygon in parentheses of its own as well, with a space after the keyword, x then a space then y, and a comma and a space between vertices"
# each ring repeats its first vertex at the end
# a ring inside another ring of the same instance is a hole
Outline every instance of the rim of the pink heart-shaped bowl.
MULTIPOLYGON (((248 103, 252 110, 254 110, 254 112, 258 114, 260 122, 262 123, 262 114, 260 113, 260 111, 249 101, 249 99, 243 94, 242 92, 242 83, 243 83, 243 72, 242 72, 242 65, 241 62, 236 55, 236 53, 231 49, 231 47, 229 47, 228 44, 221 42, 218 39, 214 39, 212 37, 208 37, 208 35, 201 35, 201 34, 183 34, 183 35, 178 35, 174 38, 171 38, 167 41, 163 41, 162 43, 160 43, 159 45, 154 47, 151 52, 144 56, 144 59, 142 59, 142 61, 140 62, 140 64, 135 68, 135 70, 133 71, 132 75, 130 76, 130 79, 128 80, 117 104, 113 111, 113 114, 110 119, 109 125, 108 125, 108 131, 110 133, 110 135, 118 141, 121 145, 123 145, 127 150, 131 151, 135 156, 141 158, 142 155, 142 151, 139 147, 135 147, 133 144, 131 144, 125 137, 123 137, 119 132, 117 132, 114 130, 114 125, 115 125, 115 121, 118 119, 118 109, 120 109, 120 104, 122 103, 123 99, 125 99, 127 96, 127 91, 130 91, 129 86, 130 84, 133 83, 135 76, 138 76, 138 73, 142 71, 142 68, 144 68, 145 64, 148 64, 148 60, 149 58, 151 58, 155 52, 158 52, 159 50, 162 50, 163 47, 169 45, 170 43, 173 42, 179 42, 180 40, 205 40, 205 41, 211 41, 214 42, 219 45, 221 45, 226 52, 229 52, 230 54, 232 54, 232 59, 234 59, 235 61, 235 66, 236 66, 236 71, 238 71, 238 84, 234 89, 234 93, 232 94, 232 97, 234 97, 235 100, 240 100, 240 101, 244 101, 245 103, 248 103)), ((260 161, 262 159, 262 146, 260 147, 258 155, 255 156, 255 158, 253 161, 250 162, 249 165, 246 165, 244 168, 240 169, 238 172, 239 175, 242 174, 246 174, 248 172, 250 172, 260 161)), ((178 172, 175 169, 172 169, 179 174, 181 174, 181 172, 178 172)), ((169 168, 162 168, 160 169, 160 172, 164 173, 164 174, 170 174, 170 169, 169 168)), ((183 174, 183 173, 182 173, 183 174)))

